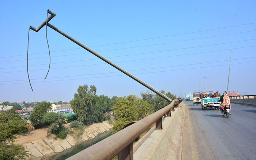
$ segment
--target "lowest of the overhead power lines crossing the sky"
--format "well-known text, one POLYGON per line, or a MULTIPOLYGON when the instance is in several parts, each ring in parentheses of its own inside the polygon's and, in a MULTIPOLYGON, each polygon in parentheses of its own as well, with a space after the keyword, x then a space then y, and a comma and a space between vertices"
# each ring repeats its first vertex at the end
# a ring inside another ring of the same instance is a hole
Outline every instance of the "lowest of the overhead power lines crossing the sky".
MULTIPOLYGON (((231 65, 246 64, 246 63, 255 63, 255 62, 256 62, 256 61, 245 62, 245 63, 235 63, 235 64, 231 64, 231 65)), ((135 73, 135 74, 133 74, 133 75, 142 75, 142 74, 160 73, 160 72, 171 72, 171 71, 182 71, 182 70, 189 70, 189 69, 209 68, 209 67, 221 67, 221 66, 226 66, 226 65, 229 65, 229 64, 214 65, 214 66, 207 66, 207 67, 186 68, 186 69, 175 69, 175 70, 169 70, 169 71, 156 71, 156 72, 135 73)), ((88 77, 88 78, 65 79, 65 80, 51 80, 51 81, 37 81, 37 82, 33 82, 33 83, 53 82, 53 81, 67 81, 67 80, 80 80, 80 79, 94 79, 94 78, 116 77, 116 76, 125 76, 125 75, 101 76, 101 77, 88 77)), ((25 84, 25 83, 28 83, 28 82, 23 82, 23 83, 9 83, 9 84, 25 84)), ((0 84, 0 85, 9 85, 9 84, 0 84)))

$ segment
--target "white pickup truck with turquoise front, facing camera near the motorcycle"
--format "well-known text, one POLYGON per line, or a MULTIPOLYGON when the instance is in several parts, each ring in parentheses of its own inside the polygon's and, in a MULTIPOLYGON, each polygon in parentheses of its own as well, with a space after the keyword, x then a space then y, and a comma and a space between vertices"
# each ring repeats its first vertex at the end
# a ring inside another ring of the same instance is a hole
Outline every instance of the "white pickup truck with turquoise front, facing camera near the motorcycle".
POLYGON ((221 102, 219 102, 220 97, 218 92, 202 92, 200 98, 203 110, 205 110, 208 107, 214 107, 219 109, 219 105, 221 104, 221 102))

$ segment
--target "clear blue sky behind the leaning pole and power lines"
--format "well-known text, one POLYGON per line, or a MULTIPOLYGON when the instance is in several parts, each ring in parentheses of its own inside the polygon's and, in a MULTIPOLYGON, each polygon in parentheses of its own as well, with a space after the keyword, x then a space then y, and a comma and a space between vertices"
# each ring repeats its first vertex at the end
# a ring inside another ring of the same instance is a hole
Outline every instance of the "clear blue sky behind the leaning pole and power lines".
POLYGON ((44 27, 30 30, 32 92, 27 34, 30 25, 46 19, 47 9, 57 14, 50 24, 159 91, 180 96, 181 90, 184 97, 198 90, 199 81, 204 91, 203 77, 207 91, 226 91, 232 49, 229 91, 256 94, 255 7, 253 0, 1 1, 0 101, 33 101, 34 95, 37 101, 69 101, 84 84, 109 97, 148 90, 49 27, 51 67, 44 80, 49 65, 44 27))

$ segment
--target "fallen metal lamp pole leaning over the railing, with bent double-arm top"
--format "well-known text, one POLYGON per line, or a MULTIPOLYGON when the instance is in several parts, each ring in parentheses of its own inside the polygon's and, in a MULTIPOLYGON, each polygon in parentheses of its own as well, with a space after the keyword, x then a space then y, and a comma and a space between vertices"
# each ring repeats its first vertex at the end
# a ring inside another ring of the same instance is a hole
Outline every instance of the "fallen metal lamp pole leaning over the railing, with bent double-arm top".
MULTIPOLYGON (((51 14, 51 16, 55 16, 56 14, 52 11, 50 11, 48 9, 47 11, 48 13, 51 14), (55 15, 54 15, 55 14, 55 15)), ((52 18, 53 18, 52 17, 52 18)), ((49 17, 50 18, 50 17, 49 17)), ((51 19, 52 19, 51 18, 51 19)), ((49 20, 48 20, 49 21, 49 20)), ((36 31, 38 32, 44 25, 46 24, 46 20, 38 27, 38 28, 34 28, 32 26, 30 26, 30 28, 33 30, 33 31, 36 31)), ((74 39, 73 37, 67 35, 65 32, 61 31, 60 29, 58 29, 57 27, 53 26, 52 24, 50 23, 47 23, 47 26, 54 29, 55 31, 57 31, 58 33, 60 33, 61 35, 67 37, 69 40, 73 41, 74 43, 78 44, 80 47, 86 49, 87 51, 89 51, 90 53, 92 53, 93 55, 99 57, 101 60, 105 61, 106 63, 112 65, 114 68, 118 69, 119 71, 123 72, 125 75, 131 77, 132 79, 136 80, 137 82, 139 82, 140 84, 144 85, 145 87, 147 87, 148 89, 150 89, 151 91, 153 91, 154 93, 156 93, 157 95, 161 96, 163 99, 171 102, 172 99, 170 99, 169 97, 167 97, 166 95, 164 95, 163 93, 157 91, 155 88, 151 87, 150 85, 148 85, 147 83, 143 82, 142 80, 138 79, 137 77, 133 76, 131 73, 125 71, 123 68, 119 67, 118 65, 114 64, 112 61, 106 59, 105 57, 99 55, 97 52, 93 51, 92 49, 90 49, 89 47, 87 47, 86 45, 80 43, 79 41, 77 41, 76 39, 74 39)))

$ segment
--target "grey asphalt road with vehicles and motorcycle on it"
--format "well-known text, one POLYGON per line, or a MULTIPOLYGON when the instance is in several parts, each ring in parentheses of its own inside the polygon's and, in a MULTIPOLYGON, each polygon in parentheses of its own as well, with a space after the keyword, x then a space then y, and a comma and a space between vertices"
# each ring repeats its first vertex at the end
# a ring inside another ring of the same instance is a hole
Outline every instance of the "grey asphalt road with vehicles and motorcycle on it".
POLYGON ((203 111, 201 105, 193 105, 192 101, 184 103, 189 119, 185 125, 190 128, 184 129, 189 135, 183 145, 190 145, 187 150, 191 149, 191 159, 256 160, 255 107, 232 104, 227 118, 217 109, 203 111))

